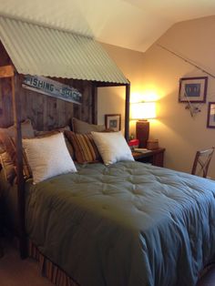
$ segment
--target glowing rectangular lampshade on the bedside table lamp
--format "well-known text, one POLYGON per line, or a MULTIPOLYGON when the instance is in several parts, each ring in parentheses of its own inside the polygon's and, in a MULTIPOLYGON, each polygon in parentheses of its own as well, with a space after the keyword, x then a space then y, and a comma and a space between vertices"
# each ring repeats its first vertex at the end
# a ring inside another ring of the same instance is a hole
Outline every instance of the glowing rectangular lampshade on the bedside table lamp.
POLYGON ((155 102, 138 102, 130 104, 130 119, 149 119, 156 117, 155 102))

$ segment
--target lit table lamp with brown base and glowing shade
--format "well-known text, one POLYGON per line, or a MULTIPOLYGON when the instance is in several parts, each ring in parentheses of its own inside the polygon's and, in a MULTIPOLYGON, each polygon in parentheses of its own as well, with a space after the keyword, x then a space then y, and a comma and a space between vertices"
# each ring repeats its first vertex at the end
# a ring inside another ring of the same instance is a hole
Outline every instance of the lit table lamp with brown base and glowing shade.
POLYGON ((149 118, 156 117, 155 102, 131 103, 131 119, 136 122, 136 137, 139 140, 139 148, 146 148, 149 136, 149 118))

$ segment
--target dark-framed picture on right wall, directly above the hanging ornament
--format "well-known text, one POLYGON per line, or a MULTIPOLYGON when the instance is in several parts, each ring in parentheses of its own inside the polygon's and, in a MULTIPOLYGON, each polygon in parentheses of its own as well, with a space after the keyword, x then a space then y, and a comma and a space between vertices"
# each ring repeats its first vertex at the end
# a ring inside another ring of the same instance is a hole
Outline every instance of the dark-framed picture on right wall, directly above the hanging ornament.
POLYGON ((208 77, 183 77, 179 80, 179 102, 206 102, 208 77))

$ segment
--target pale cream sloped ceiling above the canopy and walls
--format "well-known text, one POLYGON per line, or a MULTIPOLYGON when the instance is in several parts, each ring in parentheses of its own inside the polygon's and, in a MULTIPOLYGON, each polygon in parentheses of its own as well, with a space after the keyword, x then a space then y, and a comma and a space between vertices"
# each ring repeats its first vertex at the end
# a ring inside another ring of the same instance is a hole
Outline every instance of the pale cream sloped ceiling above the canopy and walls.
POLYGON ((173 24, 215 15, 215 0, 0 0, 0 14, 144 52, 173 24))

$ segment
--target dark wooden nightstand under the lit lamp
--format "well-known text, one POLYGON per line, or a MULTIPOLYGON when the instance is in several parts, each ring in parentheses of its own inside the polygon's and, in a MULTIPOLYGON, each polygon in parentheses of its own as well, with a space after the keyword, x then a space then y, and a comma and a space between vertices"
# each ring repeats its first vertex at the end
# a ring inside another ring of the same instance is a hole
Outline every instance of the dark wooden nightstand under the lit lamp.
POLYGON ((163 167, 165 148, 148 150, 146 153, 132 152, 134 159, 142 163, 150 163, 154 166, 163 167))

